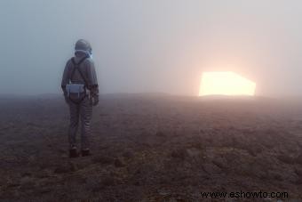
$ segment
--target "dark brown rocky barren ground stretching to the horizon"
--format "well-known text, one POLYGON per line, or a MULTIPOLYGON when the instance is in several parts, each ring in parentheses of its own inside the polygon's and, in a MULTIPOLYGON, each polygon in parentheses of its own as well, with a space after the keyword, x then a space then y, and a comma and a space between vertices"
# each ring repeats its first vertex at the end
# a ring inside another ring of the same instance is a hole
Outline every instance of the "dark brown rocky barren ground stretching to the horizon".
POLYGON ((0 201, 302 201, 302 100, 102 95, 93 155, 76 159, 61 97, 3 96, 0 109, 0 201))

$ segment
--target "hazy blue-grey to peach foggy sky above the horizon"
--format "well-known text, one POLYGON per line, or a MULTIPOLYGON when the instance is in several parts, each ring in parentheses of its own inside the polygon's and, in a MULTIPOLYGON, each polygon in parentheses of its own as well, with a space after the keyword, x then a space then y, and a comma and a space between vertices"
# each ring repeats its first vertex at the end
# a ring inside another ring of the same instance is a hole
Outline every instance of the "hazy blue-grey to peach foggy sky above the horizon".
POLYGON ((101 93, 196 95, 203 71, 234 71, 300 96, 301 22, 298 0, 1 0, 0 94, 61 93, 84 38, 101 93))

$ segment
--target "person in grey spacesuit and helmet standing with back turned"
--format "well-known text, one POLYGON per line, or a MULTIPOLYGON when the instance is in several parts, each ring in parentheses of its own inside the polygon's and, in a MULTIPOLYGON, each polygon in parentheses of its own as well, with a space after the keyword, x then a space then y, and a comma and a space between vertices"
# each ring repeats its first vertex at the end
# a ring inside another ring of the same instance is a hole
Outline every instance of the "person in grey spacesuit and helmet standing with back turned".
POLYGON ((81 154, 91 155, 89 147, 92 106, 99 103, 99 85, 92 61, 91 44, 80 39, 76 42, 75 57, 68 60, 61 87, 70 112, 68 129, 69 158, 80 155, 76 148, 76 132, 81 120, 81 154))

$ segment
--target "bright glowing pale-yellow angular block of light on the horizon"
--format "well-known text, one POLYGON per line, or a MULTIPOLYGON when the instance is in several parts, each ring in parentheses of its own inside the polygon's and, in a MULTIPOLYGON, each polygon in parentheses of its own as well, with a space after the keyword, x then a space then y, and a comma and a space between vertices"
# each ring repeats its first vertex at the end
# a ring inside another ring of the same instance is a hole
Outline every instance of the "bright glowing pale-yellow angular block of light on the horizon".
POLYGON ((255 94, 256 84, 234 72, 204 72, 199 96, 255 94))

